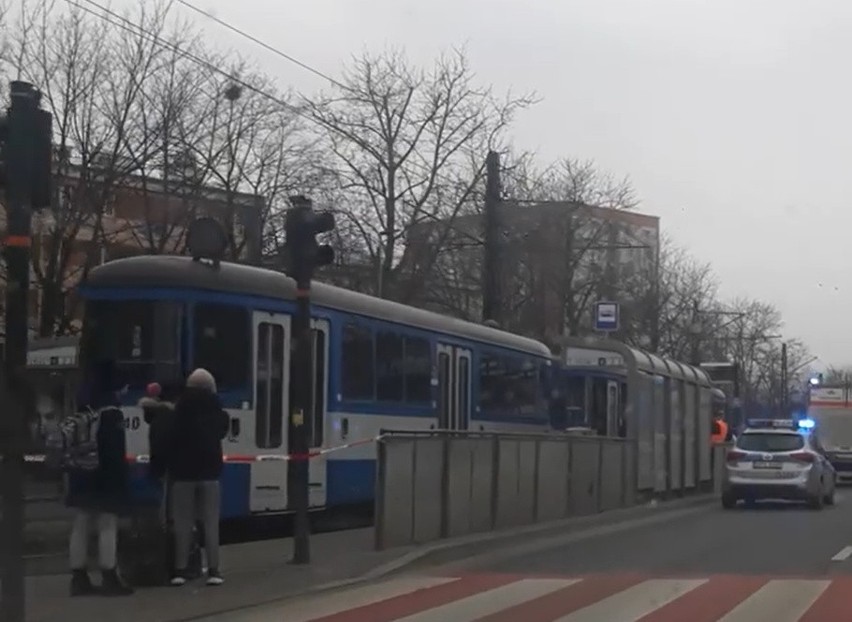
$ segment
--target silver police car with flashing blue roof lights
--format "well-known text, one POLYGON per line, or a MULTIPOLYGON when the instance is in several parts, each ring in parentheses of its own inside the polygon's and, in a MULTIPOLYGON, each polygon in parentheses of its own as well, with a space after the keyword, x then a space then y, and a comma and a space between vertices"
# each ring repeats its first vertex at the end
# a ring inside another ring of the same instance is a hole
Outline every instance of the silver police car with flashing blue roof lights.
POLYGON ((737 501, 805 501, 821 510, 834 504, 836 474, 811 419, 755 419, 746 422, 728 452, 722 479, 722 507, 737 501))

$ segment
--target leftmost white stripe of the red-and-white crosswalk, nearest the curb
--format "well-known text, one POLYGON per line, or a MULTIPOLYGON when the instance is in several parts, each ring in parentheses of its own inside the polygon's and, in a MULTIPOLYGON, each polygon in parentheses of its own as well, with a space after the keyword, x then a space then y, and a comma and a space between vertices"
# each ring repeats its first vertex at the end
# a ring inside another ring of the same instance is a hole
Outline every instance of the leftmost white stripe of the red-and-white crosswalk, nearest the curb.
POLYGON ((274 605, 264 605, 248 609, 241 613, 226 613, 222 616, 205 618, 209 622, 269 622, 280 620, 286 615, 287 622, 310 622, 349 609, 371 605, 377 601, 406 596, 419 590, 426 590, 458 581, 455 578, 440 577, 403 577, 382 583, 357 588, 344 589, 323 595, 308 596, 299 600, 288 600, 274 605))

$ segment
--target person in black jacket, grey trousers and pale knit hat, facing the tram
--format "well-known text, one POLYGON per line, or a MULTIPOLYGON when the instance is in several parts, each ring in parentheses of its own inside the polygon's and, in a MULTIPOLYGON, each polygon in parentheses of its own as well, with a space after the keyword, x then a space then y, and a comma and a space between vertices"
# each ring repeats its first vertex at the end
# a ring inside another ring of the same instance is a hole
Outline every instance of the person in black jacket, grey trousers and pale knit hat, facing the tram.
POLYGON ((175 406, 166 461, 175 528, 174 586, 187 581, 192 530, 199 513, 204 523, 207 585, 223 583, 219 572, 219 477, 222 440, 228 425, 228 415, 216 394, 216 380, 206 369, 196 369, 187 378, 186 388, 175 406))

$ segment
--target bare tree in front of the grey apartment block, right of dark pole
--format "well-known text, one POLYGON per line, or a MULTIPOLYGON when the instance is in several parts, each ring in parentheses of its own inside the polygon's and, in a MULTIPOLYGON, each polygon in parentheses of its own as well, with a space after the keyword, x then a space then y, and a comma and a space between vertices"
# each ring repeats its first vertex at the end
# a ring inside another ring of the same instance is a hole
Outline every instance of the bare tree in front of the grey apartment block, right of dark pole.
POLYGON ((516 273, 504 276, 507 311, 511 316, 511 308, 526 308, 530 317, 521 323, 541 326, 535 318, 556 304, 562 312, 555 334, 538 336, 588 332, 592 299, 617 294, 618 247, 630 233, 610 210, 638 205, 633 186, 629 179, 616 179, 593 161, 575 158, 563 158, 539 170, 529 154, 522 154, 510 160, 507 169, 506 202, 500 213, 505 255, 512 259, 504 266, 516 273), (527 210, 529 216, 524 214, 527 210), (526 220, 531 222, 518 224, 526 220), (512 247, 520 255, 512 253, 512 247), (515 270, 516 266, 522 269, 515 270))

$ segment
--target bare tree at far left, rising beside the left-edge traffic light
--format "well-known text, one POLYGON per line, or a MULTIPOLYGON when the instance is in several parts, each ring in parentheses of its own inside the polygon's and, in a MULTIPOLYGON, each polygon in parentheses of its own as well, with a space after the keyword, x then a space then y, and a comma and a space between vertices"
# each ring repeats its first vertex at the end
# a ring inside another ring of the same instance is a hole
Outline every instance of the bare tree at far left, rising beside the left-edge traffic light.
MULTIPOLYGON (((140 6, 148 33, 165 29, 166 10, 140 6)), ((56 196, 36 218, 33 274, 42 335, 75 328, 74 286, 104 258, 120 231, 109 216, 116 193, 144 164, 156 136, 137 122, 145 89, 162 60, 150 36, 105 26, 76 6, 25 3, 4 63, 33 82, 54 119, 56 196)))

